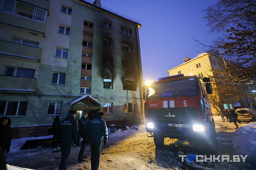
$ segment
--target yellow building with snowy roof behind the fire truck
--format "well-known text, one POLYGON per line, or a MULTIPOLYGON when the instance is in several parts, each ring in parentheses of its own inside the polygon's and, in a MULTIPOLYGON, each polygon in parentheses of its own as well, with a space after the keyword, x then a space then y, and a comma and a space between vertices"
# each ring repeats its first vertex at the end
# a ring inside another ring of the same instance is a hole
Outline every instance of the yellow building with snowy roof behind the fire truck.
MULTIPOLYGON (((200 53, 194 58, 186 57, 184 63, 169 69, 169 75, 184 74, 184 76, 196 75, 198 77, 213 76, 211 69, 224 70, 225 63, 222 58, 215 56, 209 52, 200 53)), ((225 60, 226 65, 229 61, 225 60)), ((232 109, 232 103, 226 100, 223 103, 225 109, 232 109)), ((216 109, 211 106, 212 113, 217 113, 216 109)))

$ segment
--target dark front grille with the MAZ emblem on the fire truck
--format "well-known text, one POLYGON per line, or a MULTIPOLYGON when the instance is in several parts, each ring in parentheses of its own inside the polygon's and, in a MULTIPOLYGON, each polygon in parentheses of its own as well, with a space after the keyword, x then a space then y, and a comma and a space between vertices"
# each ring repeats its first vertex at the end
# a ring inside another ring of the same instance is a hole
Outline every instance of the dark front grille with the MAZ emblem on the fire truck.
POLYGON ((186 108, 153 108, 148 109, 148 120, 161 123, 182 123, 186 121, 198 121, 196 107, 186 108), (173 117, 168 117, 169 113, 173 117))

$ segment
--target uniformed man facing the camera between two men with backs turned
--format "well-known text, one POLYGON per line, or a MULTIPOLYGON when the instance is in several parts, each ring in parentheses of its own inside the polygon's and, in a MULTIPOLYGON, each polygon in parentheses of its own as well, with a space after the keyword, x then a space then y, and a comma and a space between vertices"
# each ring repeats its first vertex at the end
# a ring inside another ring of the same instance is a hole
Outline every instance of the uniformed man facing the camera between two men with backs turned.
POLYGON ((79 128, 79 135, 82 138, 81 141, 81 149, 78 155, 78 161, 80 162, 84 162, 84 158, 87 158, 87 156, 84 156, 84 150, 86 147, 86 143, 87 143, 87 134, 85 134, 85 128, 89 122, 88 119, 88 113, 89 111, 85 111, 81 117, 81 119, 78 120, 78 128, 79 128))

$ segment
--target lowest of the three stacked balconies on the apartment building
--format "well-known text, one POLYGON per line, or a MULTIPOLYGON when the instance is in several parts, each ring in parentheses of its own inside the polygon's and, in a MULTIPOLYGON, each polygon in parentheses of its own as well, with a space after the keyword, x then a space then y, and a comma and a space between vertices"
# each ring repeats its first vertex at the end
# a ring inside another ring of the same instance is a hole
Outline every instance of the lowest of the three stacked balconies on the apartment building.
POLYGON ((36 93, 36 78, 0 75, 0 93, 36 93))

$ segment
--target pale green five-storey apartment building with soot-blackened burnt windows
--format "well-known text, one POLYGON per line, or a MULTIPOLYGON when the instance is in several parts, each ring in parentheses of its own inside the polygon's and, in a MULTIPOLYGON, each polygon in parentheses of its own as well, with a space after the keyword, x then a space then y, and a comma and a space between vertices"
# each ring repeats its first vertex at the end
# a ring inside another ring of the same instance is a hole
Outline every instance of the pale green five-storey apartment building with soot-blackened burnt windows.
POLYGON ((71 108, 107 122, 142 108, 141 24, 94 4, 0 0, 0 116, 23 136, 71 108))

